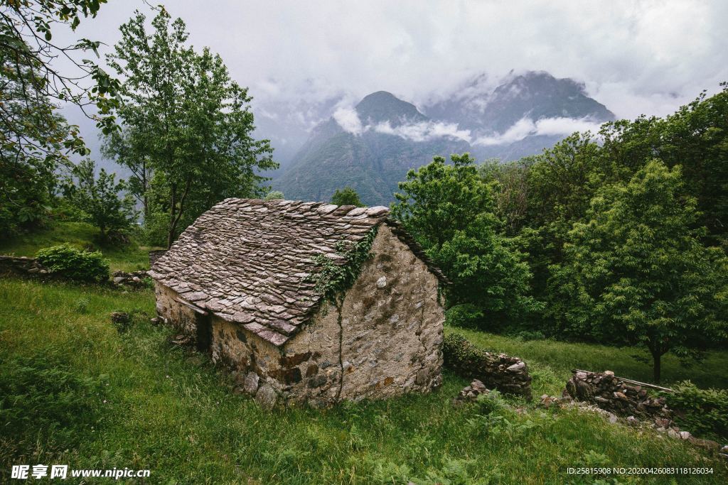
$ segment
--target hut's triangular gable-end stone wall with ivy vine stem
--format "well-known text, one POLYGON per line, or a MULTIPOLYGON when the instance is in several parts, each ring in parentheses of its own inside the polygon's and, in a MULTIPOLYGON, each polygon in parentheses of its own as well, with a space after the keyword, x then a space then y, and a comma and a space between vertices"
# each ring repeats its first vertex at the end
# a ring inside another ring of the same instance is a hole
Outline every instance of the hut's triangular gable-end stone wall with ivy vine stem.
POLYGON ((321 406, 440 385, 437 278, 386 225, 372 252, 341 308, 328 305, 285 346, 277 375, 291 400, 321 406))

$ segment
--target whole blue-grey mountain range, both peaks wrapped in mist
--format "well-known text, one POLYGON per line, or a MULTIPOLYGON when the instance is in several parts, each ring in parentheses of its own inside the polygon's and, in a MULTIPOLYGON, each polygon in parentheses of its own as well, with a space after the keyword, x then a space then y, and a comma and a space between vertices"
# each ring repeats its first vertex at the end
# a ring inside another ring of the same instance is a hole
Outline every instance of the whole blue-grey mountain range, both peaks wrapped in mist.
MULTIPOLYGON (((519 159, 614 119, 583 84, 545 72, 511 73, 497 82, 476 76, 422 110, 385 91, 353 107, 339 101, 316 109, 329 116, 301 148, 292 156, 290 146, 276 153, 283 163, 272 185, 287 199, 328 200, 350 185, 366 204, 387 205, 408 169, 435 155, 469 151, 480 160, 519 159)), ((278 150, 275 132, 260 131, 278 150)))

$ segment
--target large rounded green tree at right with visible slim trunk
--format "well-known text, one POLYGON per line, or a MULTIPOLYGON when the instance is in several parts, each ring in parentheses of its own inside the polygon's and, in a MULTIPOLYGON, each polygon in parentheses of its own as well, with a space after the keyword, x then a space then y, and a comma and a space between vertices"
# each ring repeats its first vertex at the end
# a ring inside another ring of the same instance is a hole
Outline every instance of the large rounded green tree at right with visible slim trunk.
POLYGON ((728 260, 700 243, 696 204, 681 167, 657 160, 601 188, 552 268, 550 315, 562 331, 645 345, 657 382, 665 353, 693 358, 727 337, 728 260))

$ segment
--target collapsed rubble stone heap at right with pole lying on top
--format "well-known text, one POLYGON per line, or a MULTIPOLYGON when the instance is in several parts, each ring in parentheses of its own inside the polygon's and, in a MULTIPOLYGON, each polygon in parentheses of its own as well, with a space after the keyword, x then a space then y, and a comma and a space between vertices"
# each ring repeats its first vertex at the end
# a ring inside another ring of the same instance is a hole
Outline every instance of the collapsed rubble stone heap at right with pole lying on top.
POLYGON ((565 393, 622 416, 672 417, 664 397, 649 396, 643 386, 614 377, 612 371, 574 372, 566 382, 565 393))

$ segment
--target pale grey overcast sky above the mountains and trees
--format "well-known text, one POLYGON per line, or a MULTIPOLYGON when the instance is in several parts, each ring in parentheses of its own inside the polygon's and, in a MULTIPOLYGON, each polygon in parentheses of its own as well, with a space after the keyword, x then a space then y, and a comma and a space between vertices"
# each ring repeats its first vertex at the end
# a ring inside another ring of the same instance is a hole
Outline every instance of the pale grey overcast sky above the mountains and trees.
MULTIPOLYGON (((665 115, 728 80, 728 1, 168 0, 259 106, 363 97, 416 104, 478 73, 544 70, 618 117, 665 115)), ((109 0, 76 36, 114 44, 141 0, 109 0)), ((153 15, 153 12, 151 13, 153 15)), ((107 49, 108 51, 108 49, 107 49)), ((102 51, 103 52, 103 51, 102 51)))

